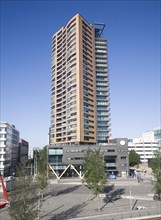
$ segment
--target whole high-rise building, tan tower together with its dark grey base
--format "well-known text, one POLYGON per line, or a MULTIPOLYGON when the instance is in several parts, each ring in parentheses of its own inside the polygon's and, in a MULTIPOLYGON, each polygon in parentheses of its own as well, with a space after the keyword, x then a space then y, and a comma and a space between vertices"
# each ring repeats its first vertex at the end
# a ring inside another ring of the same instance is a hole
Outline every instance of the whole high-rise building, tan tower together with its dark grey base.
POLYGON ((49 163, 62 173, 80 172, 87 149, 100 149, 106 171, 128 172, 127 139, 110 140, 107 39, 104 24, 76 14, 52 38, 49 163))

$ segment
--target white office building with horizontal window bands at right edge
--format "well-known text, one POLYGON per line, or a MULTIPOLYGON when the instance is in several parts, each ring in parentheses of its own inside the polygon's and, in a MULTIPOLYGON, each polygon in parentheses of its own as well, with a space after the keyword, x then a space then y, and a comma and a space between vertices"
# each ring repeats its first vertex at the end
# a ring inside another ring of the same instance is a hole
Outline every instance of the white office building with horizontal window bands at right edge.
POLYGON ((140 155, 141 162, 148 164, 156 151, 161 152, 161 129, 146 131, 142 137, 130 140, 128 150, 135 150, 140 155))

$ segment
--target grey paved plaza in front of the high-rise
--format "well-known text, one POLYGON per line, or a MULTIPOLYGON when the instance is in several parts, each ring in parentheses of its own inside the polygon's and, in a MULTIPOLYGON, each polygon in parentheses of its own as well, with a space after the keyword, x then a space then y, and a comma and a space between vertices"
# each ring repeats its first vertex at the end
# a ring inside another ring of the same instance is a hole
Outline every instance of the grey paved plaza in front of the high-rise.
MULTIPOLYGON (((105 193, 98 199, 78 178, 61 179, 59 182, 51 180, 45 191, 39 219, 120 220, 130 216, 161 216, 161 202, 153 201, 152 189, 151 181, 146 178, 140 183, 132 178, 119 178, 110 180, 105 186, 105 193), (135 210, 137 206, 145 209, 135 210)), ((1 209, 0 220, 10 220, 7 208, 1 209)))

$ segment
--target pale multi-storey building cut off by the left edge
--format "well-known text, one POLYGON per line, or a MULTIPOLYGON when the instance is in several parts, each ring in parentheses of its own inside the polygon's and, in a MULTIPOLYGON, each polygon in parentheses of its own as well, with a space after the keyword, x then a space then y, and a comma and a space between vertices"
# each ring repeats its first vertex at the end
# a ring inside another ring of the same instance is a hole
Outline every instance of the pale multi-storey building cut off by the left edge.
POLYGON ((0 123, 0 173, 13 175, 18 159, 19 131, 14 125, 0 123))

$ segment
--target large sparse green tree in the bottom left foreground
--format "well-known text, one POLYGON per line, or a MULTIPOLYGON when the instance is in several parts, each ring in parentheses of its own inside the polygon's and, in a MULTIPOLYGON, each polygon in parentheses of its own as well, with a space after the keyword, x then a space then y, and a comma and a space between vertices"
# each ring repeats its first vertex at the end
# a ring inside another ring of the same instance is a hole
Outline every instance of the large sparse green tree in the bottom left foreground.
POLYGON ((9 215, 13 220, 35 219, 39 213, 39 197, 28 168, 21 164, 16 169, 14 188, 9 194, 9 215))

